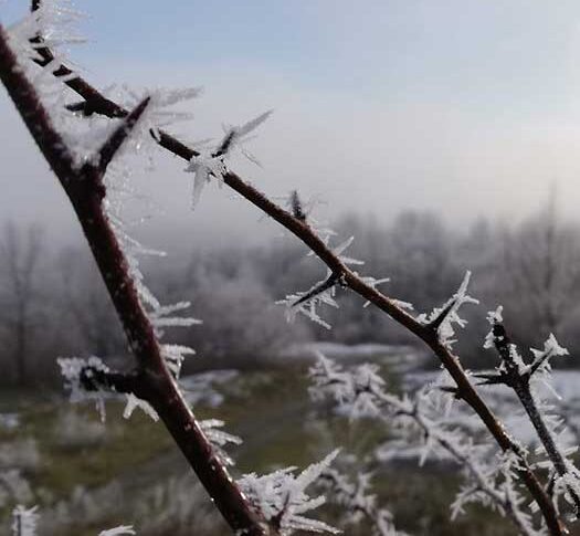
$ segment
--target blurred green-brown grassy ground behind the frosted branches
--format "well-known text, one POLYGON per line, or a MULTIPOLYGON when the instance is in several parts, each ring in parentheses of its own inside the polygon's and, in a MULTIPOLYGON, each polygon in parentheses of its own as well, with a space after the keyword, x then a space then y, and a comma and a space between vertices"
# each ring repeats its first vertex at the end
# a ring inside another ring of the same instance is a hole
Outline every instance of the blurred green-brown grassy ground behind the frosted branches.
MULTIPOLYGON (((379 466, 372 452, 388 430, 315 411, 305 374, 303 366, 243 372, 217 387, 224 395, 221 406, 194 408, 198 417, 222 419, 228 431, 244 439, 231 450, 235 475, 285 465, 302 469, 340 446, 377 471, 378 501, 394 513, 400 529, 425 536, 514 534, 497 514, 483 508, 452 523, 449 505, 460 484, 456 470, 421 469, 415 461, 379 466)), ((4 411, 17 412, 20 424, 0 430, 1 452, 18 461, 19 452, 30 451, 30 459, 17 464, 30 482, 30 504, 40 507, 41 535, 88 536, 131 523, 140 535, 230 534, 162 424, 147 416, 136 412, 125 421, 123 403, 110 401, 102 424, 89 406, 34 396, 4 397, 4 411)), ((352 471, 357 466, 361 464, 352 464, 352 471)), ((0 534, 9 534, 9 509, 0 511, 0 534)), ((333 523, 337 514, 325 506, 320 516, 333 523)), ((340 526, 348 535, 371 534, 365 525, 340 526)))

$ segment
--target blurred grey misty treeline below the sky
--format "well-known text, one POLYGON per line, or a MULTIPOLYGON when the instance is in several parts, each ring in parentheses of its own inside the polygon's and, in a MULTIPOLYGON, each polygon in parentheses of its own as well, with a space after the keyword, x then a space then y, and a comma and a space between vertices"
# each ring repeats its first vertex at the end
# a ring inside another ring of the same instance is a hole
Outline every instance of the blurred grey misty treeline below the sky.
MULTIPOLYGON (((349 254, 358 270, 391 281, 381 288, 416 313, 441 305, 473 272, 470 320, 457 348, 468 366, 496 364, 482 344, 486 312, 504 305, 504 318, 521 350, 549 333, 580 355, 580 225, 559 220, 552 207, 518 224, 479 220, 451 229, 433 213, 407 211, 390 224, 347 216, 335 225, 355 235, 349 254)), ((304 318, 287 324, 276 299, 305 291, 326 269, 296 240, 261 248, 192 251, 186 261, 146 262, 146 281, 165 302, 189 299, 202 326, 176 330, 194 347, 190 367, 250 367, 293 343, 309 339, 414 343, 386 315, 337 292, 339 309, 320 311, 327 330, 304 318)), ((175 337, 171 337, 175 339, 175 337)), ((0 235, 0 368, 3 383, 51 383, 57 356, 120 359, 126 344, 86 248, 54 252, 36 227, 4 225, 0 235)), ((570 366, 574 360, 570 359, 570 366)))

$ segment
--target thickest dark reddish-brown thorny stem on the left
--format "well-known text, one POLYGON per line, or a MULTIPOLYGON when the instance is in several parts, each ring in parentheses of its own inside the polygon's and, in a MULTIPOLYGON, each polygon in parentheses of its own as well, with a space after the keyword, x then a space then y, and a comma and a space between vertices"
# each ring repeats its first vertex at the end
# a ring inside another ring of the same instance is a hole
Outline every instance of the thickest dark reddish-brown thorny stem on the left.
MULTIPOLYGON (((215 455, 183 400, 161 356, 152 325, 129 275, 127 260, 103 207, 106 193, 103 177, 107 165, 145 112, 148 99, 143 101, 133 112, 124 114, 125 120, 103 145, 95 164, 87 162, 76 168, 68 148, 53 128, 34 87, 22 74, 1 25, 0 80, 71 200, 137 359, 137 369, 129 376, 99 376, 95 375, 94 370, 85 370, 82 377, 85 387, 96 387, 96 382, 102 386, 108 385, 122 392, 135 392, 148 401, 232 529, 236 534, 247 536, 277 534, 251 507, 215 455)), ((78 83, 75 87, 85 87, 85 84, 78 83)))

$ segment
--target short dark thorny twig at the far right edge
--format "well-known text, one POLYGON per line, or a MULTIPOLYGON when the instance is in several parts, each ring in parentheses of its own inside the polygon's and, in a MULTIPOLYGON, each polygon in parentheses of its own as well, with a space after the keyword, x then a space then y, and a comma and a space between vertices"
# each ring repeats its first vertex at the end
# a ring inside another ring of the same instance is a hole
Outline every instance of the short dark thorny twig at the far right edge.
MULTIPOLYGON (((499 354, 502 362, 505 366, 505 369, 499 372, 492 374, 479 374, 476 375, 477 378, 482 379, 482 385, 505 385, 512 388, 521 406, 526 410, 526 413, 534 425, 536 433, 538 434, 541 444, 546 449, 546 453, 556 470, 556 473, 559 476, 565 476, 570 472, 570 466, 567 463, 562 452, 556 444, 553 435, 550 433, 550 430, 544 419, 542 412, 538 408, 536 398, 531 392, 530 379, 535 372, 550 358, 550 353, 546 351, 541 357, 534 360, 534 362, 526 367, 524 370, 520 369, 516 362, 516 356, 514 355, 517 351, 516 345, 512 341, 505 326, 500 323, 494 323, 492 327, 492 335, 494 339, 494 345, 499 354)), ((571 488, 567 487, 568 493, 573 502, 577 516, 580 515, 580 497, 578 493, 571 488)))

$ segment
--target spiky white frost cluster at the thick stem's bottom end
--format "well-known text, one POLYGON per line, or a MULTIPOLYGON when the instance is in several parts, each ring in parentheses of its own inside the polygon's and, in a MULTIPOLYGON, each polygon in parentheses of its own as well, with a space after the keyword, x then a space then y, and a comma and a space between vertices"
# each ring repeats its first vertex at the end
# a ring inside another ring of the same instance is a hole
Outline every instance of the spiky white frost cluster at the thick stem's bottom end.
POLYGON ((304 516, 325 503, 323 495, 312 498, 306 488, 320 477, 337 455, 338 450, 298 475, 294 475, 296 467, 286 467, 263 476, 246 474, 238 483, 264 518, 280 527, 281 536, 289 536, 296 530, 338 534, 339 530, 330 525, 304 516))

